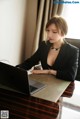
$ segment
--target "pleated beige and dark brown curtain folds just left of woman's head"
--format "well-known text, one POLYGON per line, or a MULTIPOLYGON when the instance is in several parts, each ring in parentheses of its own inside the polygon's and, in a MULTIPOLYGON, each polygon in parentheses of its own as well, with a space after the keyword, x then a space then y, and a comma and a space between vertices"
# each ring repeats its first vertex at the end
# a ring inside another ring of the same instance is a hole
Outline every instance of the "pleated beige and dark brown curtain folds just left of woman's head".
POLYGON ((35 37, 33 41, 32 54, 37 50, 42 40, 46 40, 45 25, 47 21, 54 15, 60 15, 63 9, 63 4, 58 4, 62 0, 58 0, 57 3, 54 0, 40 0, 37 26, 35 31, 35 37))

